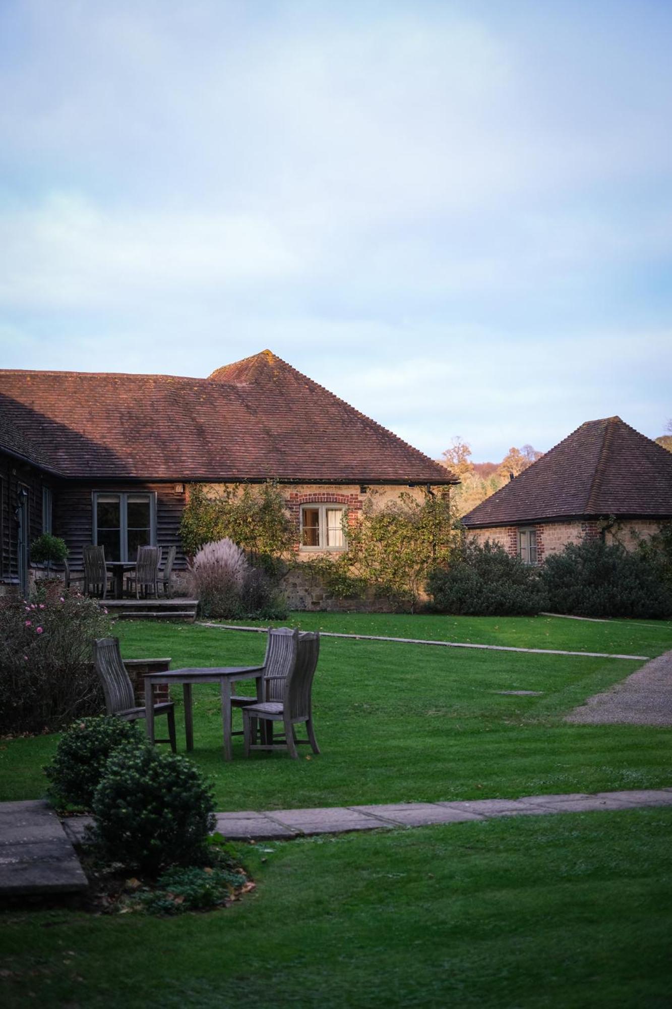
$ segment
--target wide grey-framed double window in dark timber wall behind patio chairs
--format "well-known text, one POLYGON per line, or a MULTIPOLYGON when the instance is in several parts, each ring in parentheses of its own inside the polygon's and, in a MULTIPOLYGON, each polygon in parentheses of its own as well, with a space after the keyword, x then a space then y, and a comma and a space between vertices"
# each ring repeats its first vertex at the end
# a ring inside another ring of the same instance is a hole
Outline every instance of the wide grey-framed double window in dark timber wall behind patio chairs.
POLYGON ((156 495, 152 492, 95 490, 93 543, 108 561, 134 561, 137 548, 156 542, 156 495))

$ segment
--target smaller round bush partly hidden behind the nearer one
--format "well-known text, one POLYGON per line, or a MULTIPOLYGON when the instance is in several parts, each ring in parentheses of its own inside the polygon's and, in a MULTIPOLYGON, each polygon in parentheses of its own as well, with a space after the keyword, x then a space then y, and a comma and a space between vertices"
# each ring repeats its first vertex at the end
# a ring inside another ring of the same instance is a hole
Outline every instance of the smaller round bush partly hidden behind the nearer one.
POLYGON ((78 718, 63 734, 52 763, 44 768, 49 791, 58 802, 91 808, 110 754, 117 747, 142 743, 132 721, 108 714, 78 718))

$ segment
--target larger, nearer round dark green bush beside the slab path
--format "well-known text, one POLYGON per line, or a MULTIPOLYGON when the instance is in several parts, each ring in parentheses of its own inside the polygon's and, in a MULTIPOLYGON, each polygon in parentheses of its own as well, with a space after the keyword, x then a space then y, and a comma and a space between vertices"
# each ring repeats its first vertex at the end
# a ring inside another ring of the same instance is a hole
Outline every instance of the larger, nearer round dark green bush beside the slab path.
POLYGON ((103 858, 156 875, 203 865, 215 827, 211 787, 198 768, 155 747, 123 747, 105 766, 92 806, 103 858))

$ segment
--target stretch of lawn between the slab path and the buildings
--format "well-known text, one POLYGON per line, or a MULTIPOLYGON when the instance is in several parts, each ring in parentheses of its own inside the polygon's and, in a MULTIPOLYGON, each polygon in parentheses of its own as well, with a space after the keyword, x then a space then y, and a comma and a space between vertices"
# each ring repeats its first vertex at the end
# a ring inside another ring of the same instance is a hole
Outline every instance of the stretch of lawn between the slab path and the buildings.
MULTIPOLYGON (((468 634, 474 641, 487 643, 494 637, 524 647, 538 647, 542 640, 549 647, 575 644, 567 639, 570 633, 580 637, 586 651, 653 655, 672 647, 670 625, 612 628, 544 618, 301 619, 304 626, 327 624, 359 633, 367 633, 363 628, 373 622, 385 633, 409 628, 418 637, 424 636, 422 626, 428 626, 432 637, 457 633, 464 639, 468 634), (430 623, 423 625, 425 621, 430 623), (606 639, 606 634, 614 637, 606 639)), ((257 663, 264 648, 262 635, 190 625, 128 622, 117 625, 117 632, 124 656, 170 655, 174 668, 257 663)), ((562 719, 574 705, 641 664, 325 638, 314 691, 323 756, 306 759, 302 750, 298 762, 284 754, 255 754, 244 761, 238 738, 234 761, 224 764, 217 690, 204 686, 194 692, 193 758, 213 779, 221 810, 669 785, 669 730, 571 725, 562 719), (520 689, 541 694, 496 692, 520 689)), ((178 691, 176 699, 181 699, 178 691)), ((182 724, 179 732, 182 748, 182 724)), ((38 737, 1 744, 0 799, 43 794, 41 766, 55 742, 54 737, 38 737)))

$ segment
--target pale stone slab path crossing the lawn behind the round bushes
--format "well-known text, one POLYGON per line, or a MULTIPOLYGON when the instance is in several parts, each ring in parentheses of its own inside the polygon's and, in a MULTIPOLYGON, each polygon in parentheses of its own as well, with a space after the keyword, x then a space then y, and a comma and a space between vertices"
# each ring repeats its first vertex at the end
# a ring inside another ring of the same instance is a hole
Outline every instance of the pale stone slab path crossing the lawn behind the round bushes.
MULTIPOLYGON (((243 809, 217 813, 217 830, 231 840, 291 840, 321 833, 460 823, 495 816, 541 816, 672 805, 672 787, 620 792, 528 795, 521 799, 467 799, 458 802, 390 802, 382 805, 324 806, 317 809, 243 809)), ((69 836, 81 842, 89 816, 65 820, 69 836)))

